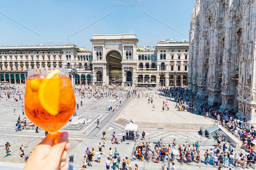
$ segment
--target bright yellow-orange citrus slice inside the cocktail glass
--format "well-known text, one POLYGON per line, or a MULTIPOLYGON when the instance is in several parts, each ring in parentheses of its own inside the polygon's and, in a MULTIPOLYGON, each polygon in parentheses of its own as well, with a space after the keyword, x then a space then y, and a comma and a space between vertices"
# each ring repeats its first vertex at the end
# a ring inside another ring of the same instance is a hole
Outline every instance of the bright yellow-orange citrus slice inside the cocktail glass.
POLYGON ((38 90, 41 106, 51 115, 59 113, 60 70, 52 70, 42 81, 38 90))

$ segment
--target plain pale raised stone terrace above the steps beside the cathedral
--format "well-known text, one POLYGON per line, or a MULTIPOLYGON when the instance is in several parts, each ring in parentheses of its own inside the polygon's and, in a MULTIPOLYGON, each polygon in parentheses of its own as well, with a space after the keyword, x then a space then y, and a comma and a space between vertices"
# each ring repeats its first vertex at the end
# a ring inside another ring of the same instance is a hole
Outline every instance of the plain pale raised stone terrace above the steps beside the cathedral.
MULTIPOLYGON (((165 97, 160 95, 160 91, 148 91, 145 90, 142 93, 140 92, 140 98, 133 96, 125 110, 123 110, 119 116, 116 118, 123 118, 130 121, 132 119, 135 123, 148 122, 148 123, 170 123, 170 124, 208 124, 212 125, 210 119, 206 119, 204 116, 199 115, 198 112, 194 111, 193 113, 185 111, 178 111, 175 108, 176 102, 174 98, 165 97), (148 103, 148 93, 149 97, 153 98, 153 103, 148 103), (167 107, 164 107, 163 112, 163 101, 168 102, 170 109, 167 110, 167 107), (155 111, 153 111, 153 105, 155 106, 155 111)), ((190 101, 192 101, 190 99, 190 101)), ((198 106, 197 106, 198 107, 198 106)))

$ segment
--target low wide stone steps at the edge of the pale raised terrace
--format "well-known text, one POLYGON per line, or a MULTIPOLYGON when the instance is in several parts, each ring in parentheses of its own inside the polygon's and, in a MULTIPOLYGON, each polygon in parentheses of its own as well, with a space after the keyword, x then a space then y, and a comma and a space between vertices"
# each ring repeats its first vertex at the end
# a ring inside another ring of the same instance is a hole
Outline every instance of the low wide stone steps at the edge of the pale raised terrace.
MULTIPOLYGON (((130 123, 129 120, 118 118, 115 120, 116 123, 127 125, 130 123)), ((182 124, 182 123, 154 123, 154 122, 133 122, 137 124, 139 128, 167 128, 167 129, 196 129, 200 130, 201 126, 208 128, 213 124, 182 124)))

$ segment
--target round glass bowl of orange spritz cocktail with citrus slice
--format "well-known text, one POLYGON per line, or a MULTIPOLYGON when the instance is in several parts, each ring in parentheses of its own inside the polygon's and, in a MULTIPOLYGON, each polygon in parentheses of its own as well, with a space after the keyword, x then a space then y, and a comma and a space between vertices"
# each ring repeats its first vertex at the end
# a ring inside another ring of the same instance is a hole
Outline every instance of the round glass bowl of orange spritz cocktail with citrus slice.
POLYGON ((45 131, 64 126, 76 109, 75 95, 66 69, 29 70, 25 91, 25 113, 45 131))

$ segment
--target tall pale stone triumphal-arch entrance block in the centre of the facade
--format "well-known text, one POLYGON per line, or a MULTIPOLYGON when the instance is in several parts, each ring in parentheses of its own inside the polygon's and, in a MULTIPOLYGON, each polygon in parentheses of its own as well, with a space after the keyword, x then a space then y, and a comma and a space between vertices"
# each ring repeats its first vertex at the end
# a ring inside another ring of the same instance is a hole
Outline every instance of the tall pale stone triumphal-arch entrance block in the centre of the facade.
POLYGON ((93 35, 92 79, 94 83, 122 83, 135 86, 136 44, 135 34, 93 35), (97 79, 102 72, 102 79, 97 79), (127 76, 127 77, 126 77, 127 76))

